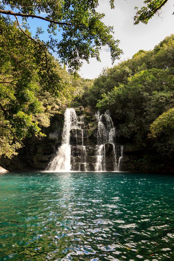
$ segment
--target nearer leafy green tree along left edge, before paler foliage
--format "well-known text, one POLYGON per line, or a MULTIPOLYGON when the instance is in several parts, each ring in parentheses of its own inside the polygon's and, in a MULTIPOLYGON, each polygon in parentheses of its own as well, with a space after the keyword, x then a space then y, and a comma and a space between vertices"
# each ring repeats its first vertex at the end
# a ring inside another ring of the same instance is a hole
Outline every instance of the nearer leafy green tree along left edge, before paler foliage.
POLYGON ((40 126, 48 126, 49 115, 44 121, 35 118, 44 110, 38 97, 41 84, 43 91, 54 89, 55 94, 60 78, 51 55, 38 51, 15 23, 2 18, 0 28, 0 155, 12 157, 24 137, 43 136, 40 126), (42 56, 47 63, 42 63, 42 56))

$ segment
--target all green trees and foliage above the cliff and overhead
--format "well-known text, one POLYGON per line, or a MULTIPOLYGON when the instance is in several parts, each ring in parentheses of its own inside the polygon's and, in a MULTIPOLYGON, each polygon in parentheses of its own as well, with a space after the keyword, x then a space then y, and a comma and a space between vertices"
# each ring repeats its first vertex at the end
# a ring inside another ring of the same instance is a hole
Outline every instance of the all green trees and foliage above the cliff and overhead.
MULTIPOLYGON (((109 2, 114 8, 114 1, 109 2)), ((140 10, 135 7, 134 23, 147 23, 166 2, 144 1, 140 10)), ((113 62, 122 53, 113 27, 96 12, 98 4, 98 0, 1 1, 0 157, 16 155, 25 137, 43 136, 50 117, 63 106, 78 105, 110 109, 124 137, 172 155, 168 124, 174 106, 174 35, 154 50, 139 50, 132 59, 105 68, 94 81, 82 79, 76 73, 82 60, 100 60, 102 46, 108 45, 113 62), (39 39, 42 28, 31 35, 29 17, 48 23, 49 40, 39 39), (57 52, 64 68, 50 52, 57 52)))

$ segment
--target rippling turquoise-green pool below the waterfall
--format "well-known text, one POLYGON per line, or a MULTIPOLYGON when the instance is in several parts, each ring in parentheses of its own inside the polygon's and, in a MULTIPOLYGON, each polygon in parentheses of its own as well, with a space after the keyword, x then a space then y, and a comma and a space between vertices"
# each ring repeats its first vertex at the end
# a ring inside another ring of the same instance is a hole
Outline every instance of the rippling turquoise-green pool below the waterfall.
POLYGON ((174 260, 174 178, 0 176, 0 260, 174 260))

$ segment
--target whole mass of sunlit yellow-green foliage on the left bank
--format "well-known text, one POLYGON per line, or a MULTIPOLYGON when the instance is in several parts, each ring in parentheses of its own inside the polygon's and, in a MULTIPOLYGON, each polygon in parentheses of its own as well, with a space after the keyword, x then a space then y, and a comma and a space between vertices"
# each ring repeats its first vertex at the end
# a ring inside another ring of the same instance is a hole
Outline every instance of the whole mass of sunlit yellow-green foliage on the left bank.
POLYGON ((16 23, 4 18, 0 27, 0 155, 11 157, 24 137, 43 135, 41 127, 49 126, 50 116, 70 104, 86 81, 68 74, 16 23))

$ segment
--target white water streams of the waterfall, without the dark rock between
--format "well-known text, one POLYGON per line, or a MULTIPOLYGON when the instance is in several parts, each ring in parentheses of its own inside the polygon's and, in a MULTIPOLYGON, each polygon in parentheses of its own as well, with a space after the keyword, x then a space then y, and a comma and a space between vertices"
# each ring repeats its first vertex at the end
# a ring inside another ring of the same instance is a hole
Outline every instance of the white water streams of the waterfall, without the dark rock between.
MULTIPOLYGON (((96 121, 98 122, 97 127, 97 145, 96 145, 96 163, 95 171, 106 171, 106 149, 105 145, 113 145, 113 168, 114 171, 119 171, 119 165, 123 157, 123 146, 115 144, 115 128, 113 126, 113 121, 110 117, 110 113, 107 110, 104 114, 100 116, 99 111, 95 115, 96 121)), ((48 164, 46 170, 57 171, 57 172, 70 172, 72 170, 71 163, 75 165, 75 160, 73 157, 73 149, 71 151, 70 146, 70 131, 73 130, 74 137, 76 137, 78 145, 78 136, 81 133, 81 146, 82 147, 82 157, 79 163, 79 171, 87 171, 87 152, 86 146, 84 146, 84 121, 83 117, 79 117, 80 121, 77 119, 77 115, 73 108, 67 108, 64 114, 64 128, 62 133, 62 144, 58 148, 58 151, 53 158, 53 160, 48 164)), ((77 147, 78 147, 77 146, 77 147)), ((79 147, 78 147, 79 149, 79 147)), ((77 150, 78 150, 77 149, 77 150)))

